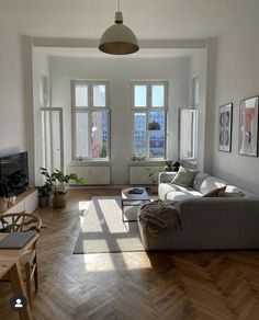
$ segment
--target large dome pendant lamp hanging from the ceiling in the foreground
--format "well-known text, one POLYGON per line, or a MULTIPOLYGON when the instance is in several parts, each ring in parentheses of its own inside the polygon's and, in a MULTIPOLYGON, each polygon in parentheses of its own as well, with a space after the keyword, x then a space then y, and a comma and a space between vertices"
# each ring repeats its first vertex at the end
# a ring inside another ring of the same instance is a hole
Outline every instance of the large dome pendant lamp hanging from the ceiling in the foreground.
POLYGON ((110 55, 130 55, 139 49, 135 34, 130 27, 123 24, 120 0, 117 1, 115 23, 104 31, 100 39, 99 49, 110 55))

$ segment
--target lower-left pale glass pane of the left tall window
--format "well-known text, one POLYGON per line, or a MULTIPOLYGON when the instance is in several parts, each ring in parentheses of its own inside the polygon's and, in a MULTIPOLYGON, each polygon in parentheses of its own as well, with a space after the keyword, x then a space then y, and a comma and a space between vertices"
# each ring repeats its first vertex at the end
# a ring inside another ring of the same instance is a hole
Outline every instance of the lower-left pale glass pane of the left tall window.
POLYGON ((88 157, 88 114, 76 113, 76 157, 88 157))

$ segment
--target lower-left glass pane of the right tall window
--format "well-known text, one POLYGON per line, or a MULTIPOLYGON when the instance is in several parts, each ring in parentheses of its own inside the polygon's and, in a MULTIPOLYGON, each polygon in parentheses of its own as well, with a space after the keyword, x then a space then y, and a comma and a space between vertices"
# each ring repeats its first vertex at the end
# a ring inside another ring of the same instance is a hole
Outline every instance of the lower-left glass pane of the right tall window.
POLYGON ((134 156, 145 157, 146 152, 146 113, 134 113, 134 156))

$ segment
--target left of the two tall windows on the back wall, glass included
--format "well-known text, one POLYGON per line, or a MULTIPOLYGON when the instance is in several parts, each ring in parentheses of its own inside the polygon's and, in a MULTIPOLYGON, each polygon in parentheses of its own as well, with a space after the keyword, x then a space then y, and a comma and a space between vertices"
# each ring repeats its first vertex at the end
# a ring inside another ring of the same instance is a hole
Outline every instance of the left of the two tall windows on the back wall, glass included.
POLYGON ((110 158, 108 82, 72 81, 72 158, 110 158))

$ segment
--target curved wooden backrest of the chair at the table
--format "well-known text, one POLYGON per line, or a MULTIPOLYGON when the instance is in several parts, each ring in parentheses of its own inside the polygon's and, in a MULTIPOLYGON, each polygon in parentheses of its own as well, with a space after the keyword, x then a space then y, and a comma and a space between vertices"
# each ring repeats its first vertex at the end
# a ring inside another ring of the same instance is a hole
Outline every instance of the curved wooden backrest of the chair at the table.
POLYGON ((35 230, 40 233, 42 219, 33 214, 13 213, 0 215, 0 232, 25 232, 35 230))

